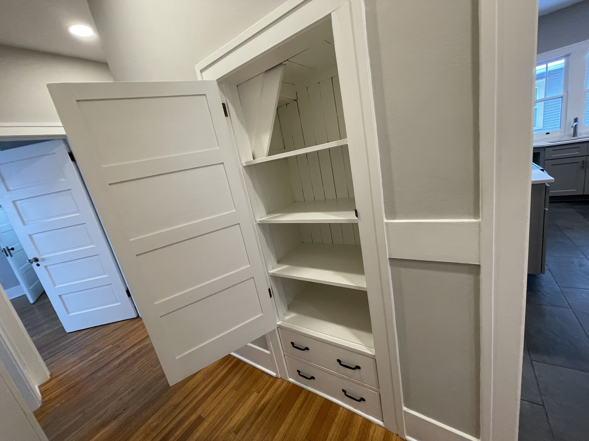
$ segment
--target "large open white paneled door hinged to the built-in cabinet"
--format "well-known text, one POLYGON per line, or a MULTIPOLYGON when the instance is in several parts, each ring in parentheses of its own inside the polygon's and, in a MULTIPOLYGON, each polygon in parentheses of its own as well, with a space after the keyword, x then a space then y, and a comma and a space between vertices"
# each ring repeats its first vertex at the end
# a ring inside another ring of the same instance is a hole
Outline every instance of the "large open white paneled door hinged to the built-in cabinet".
POLYGON ((272 330, 217 83, 48 88, 168 382, 272 330))

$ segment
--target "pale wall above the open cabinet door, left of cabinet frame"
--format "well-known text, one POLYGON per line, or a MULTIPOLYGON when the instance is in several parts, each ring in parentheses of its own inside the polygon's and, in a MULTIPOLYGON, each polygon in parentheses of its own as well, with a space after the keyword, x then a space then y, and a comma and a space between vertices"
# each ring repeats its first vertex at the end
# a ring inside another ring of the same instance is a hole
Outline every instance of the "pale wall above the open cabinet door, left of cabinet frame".
POLYGON ((286 0, 88 0, 117 81, 197 79, 194 65, 286 0))

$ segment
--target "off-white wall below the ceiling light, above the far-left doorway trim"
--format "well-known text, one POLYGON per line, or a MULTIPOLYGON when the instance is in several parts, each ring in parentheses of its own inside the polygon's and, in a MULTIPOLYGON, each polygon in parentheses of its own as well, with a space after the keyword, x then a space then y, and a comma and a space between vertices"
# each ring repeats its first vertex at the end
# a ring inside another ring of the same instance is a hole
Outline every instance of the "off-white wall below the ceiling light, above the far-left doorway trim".
POLYGON ((0 124, 59 123, 47 83, 112 81, 108 65, 0 45, 0 124))

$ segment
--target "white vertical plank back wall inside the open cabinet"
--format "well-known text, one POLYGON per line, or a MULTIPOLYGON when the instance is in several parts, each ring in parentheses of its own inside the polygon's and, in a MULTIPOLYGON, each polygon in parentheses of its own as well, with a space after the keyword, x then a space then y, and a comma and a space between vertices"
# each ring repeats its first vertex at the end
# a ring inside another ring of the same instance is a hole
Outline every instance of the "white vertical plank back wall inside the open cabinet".
MULTIPOLYGON (((339 78, 297 89, 297 99, 276 109, 270 155, 346 138, 339 78)), ((353 198, 348 146, 287 159, 295 201, 353 198)), ((304 242, 359 245, 355 223, 301 224, 304 242)))

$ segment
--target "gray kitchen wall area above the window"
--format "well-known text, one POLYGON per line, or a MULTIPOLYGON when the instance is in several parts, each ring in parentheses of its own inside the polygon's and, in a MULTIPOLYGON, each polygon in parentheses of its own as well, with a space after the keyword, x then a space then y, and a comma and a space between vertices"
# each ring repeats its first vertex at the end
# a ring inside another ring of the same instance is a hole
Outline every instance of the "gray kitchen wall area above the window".
POLYGON ((538 54, 589 40, 589 0, 538 18, 538 54))

